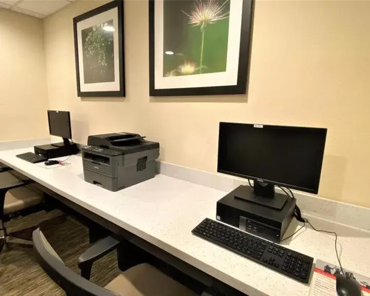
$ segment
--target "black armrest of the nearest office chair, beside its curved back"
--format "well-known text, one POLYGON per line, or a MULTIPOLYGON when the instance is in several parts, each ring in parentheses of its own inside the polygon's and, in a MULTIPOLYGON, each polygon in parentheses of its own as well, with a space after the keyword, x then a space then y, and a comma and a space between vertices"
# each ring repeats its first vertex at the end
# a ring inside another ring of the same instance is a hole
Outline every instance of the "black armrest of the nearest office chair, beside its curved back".
POLYGON ((122 239, 118 236, 108 236, 83 252, 78 258, 81 276, 89 280, 94 262, 115 250, 122 239))

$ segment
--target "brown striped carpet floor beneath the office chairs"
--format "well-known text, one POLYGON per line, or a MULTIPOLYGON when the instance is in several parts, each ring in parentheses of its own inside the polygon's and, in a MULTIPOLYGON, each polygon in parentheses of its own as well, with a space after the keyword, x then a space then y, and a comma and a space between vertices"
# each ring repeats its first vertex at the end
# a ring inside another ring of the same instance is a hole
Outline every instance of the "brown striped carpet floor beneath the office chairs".
MULTIPOLYGON (((79 273, 77 259, 88 247, 87 228, 58 210, 39 212, 6 223, 10 233, 38 225, 66 266, 79 273)), ((105 286, 119 272, 117 254, 112 252, 94 264, 91 282, 105 286)), ((32 247, 10 244, 0 254, 0 295, 64 296, 65 293, 35 261, 32 247)))

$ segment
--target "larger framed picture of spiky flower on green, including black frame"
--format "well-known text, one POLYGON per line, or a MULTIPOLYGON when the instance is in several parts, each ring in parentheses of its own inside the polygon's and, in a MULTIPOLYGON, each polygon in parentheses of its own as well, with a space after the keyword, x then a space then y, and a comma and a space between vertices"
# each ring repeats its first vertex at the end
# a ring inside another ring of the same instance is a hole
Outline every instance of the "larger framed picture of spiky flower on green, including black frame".
POLYGON ((245 94, 252 0, 149 0, 151 96, 245 94))

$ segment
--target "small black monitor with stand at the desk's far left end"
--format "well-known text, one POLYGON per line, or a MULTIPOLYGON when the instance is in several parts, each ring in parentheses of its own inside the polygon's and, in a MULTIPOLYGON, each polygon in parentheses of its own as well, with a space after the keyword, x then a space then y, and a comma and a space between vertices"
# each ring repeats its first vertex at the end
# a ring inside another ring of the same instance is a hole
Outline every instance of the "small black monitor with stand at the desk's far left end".
POLYGON ((48 110, 49 134, 62 137, 63 143, 52 144, 54 146, 69 145, 72 139, 70 115, 68 111, 48 110))

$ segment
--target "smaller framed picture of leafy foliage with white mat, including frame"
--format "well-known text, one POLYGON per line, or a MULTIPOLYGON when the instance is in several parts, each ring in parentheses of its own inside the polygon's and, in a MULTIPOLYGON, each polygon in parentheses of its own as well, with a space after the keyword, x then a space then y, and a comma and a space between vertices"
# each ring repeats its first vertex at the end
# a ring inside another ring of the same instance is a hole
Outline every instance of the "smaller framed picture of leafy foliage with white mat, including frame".
POLYGON ((123 2, 73 18, 77 95, 124 97, 123 2))

